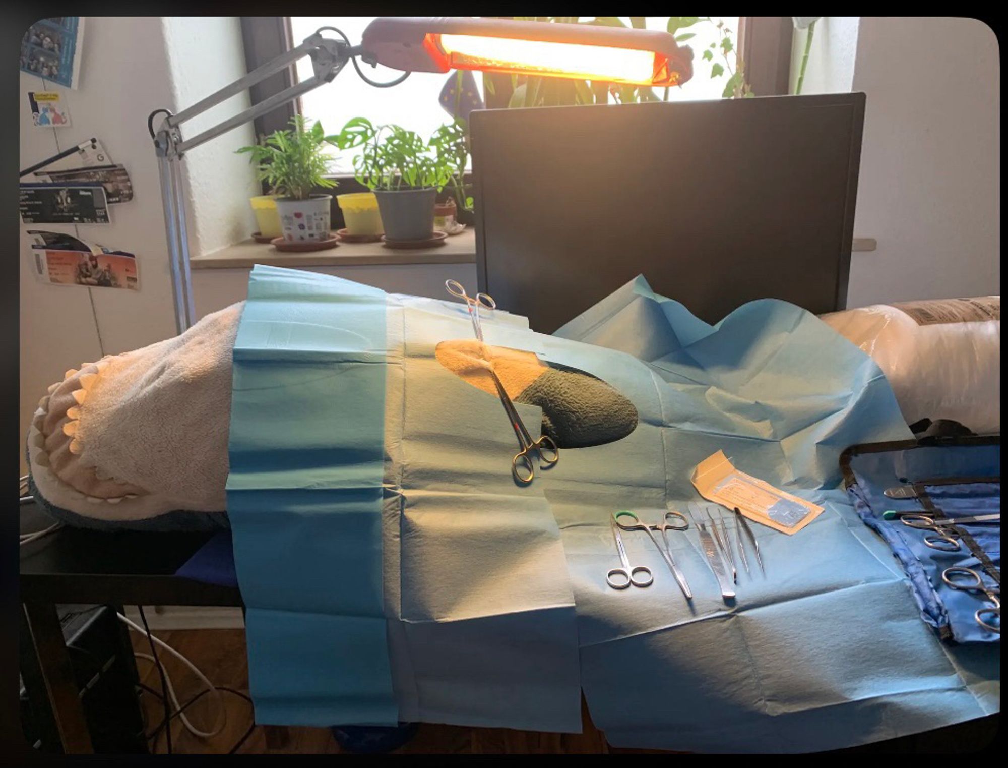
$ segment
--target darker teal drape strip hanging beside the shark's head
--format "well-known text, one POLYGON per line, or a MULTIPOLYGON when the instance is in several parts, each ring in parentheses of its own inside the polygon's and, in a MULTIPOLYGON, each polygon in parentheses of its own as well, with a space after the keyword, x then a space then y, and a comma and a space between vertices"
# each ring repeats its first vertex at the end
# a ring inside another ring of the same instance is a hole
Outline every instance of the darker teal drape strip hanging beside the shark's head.
POLYGON ((382 602, 385 293, 256 266, 228 514, 256 722, 392 725, 382 602))

